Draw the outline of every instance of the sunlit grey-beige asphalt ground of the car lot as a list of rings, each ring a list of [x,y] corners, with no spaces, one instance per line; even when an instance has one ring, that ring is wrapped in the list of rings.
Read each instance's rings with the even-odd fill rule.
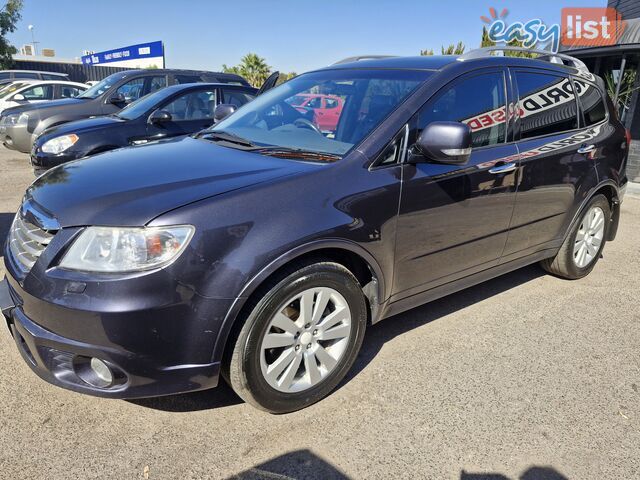
[[[26,156],[0,147],[0,240],[32,180]],[[293,414],[224,384],[135,402],[68,392],[0,325],[0,478],[640,478],[631,195],[587,278],[531,266],[385,320],[347,380]]]

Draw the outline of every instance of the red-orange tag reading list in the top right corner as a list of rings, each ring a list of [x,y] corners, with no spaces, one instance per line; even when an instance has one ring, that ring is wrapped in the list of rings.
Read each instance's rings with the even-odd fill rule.
[[[562,45],[615,45],[625,22],[615,8],[563,8]]]

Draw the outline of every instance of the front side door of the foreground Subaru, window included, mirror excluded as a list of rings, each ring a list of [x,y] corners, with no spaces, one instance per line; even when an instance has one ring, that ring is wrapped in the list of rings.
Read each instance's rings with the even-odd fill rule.
[[[433,121],[469,125],[473,150],[464,165],[403,167],[396,237],[396,299],[490,268],[507,240],[516,194],[518,152],[511,140],[506,70],[464,75],[438,91],[414,119],[409,144]]]

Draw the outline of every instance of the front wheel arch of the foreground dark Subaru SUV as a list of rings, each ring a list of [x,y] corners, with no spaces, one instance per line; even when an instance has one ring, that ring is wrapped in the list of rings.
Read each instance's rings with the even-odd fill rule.
[[[293,263],[306,259],[326,258],[347,268],[360,282],[369,310],[369,320],[377,320],[380,299],[385,298],[384,274],[376,259],[366,249],[348,240],[320,240],[301,245],[281,255],[255,274],[243,287],[228,310],[213,349],[214,362],[221,361],[234,328],[240,326],[253,296],[260,287],[281,274]]]

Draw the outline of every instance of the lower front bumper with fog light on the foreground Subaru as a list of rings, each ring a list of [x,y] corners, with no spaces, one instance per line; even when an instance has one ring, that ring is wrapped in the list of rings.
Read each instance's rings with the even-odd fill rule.
[[[189,356],[194,360],[198,357],[195,352],[181,352],[184,361],[178,364],[166,361],[175,358],[175,349],[188,348],[188,338],[177,334],[173,344],[165,338],[162,343],[166,351],[157,345],[148,348],[157,344],[157,337],[163,333],[147,329],[146,322],[136,323],[136,317],[144,317],[147,312],[122,312],[110,318],[97,312],[71,312],[35,299],[11,277],[0,282],[0,307],[24,361],[40,378],[54,385],[100,397],[142,398],[203,390],[218,384],[219,362],[189,362]],[[67,310],[69,323],[76,326],[75,338],[45,328],[45,322],[25,313],[59,319],[63,310]],[[163,312],[155,310],[153,314],[161,329]],[[174,322],[181,320],[184,319],[174,318]],[[95,340],[86,341],[87,338]],[[110,385],[95,386],[83,379],[89,360],[94,357],[110,367],[114,378]]]

